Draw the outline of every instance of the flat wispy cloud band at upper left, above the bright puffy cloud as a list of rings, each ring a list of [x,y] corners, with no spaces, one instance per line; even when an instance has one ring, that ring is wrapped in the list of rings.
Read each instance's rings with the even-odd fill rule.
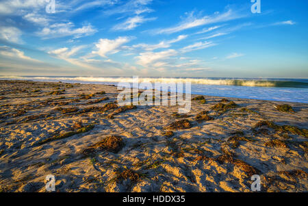
[[[44,27],[41,31],[36,34],[44,39],[48,38],[59,38],[64,36],[73,36],[74,38],[81,38],[83,36],[89,36],[97,32],[92,25],[84,25],[81,28],[73,28],[73,23],[55,23]]]

